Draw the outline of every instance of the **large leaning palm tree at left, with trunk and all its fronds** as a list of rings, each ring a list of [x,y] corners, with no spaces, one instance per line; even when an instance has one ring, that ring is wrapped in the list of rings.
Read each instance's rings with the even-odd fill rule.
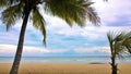
[[[17,20],[23,20],[15,59],[10,74],[17,74],[29,16],[33,21],[33,26],[44,35],[44,44],[46,45],[46,23],[40,14],[40,9],[46,13],[64,20],[70,26],[73,23],[84,26],[86,18],[97,25],[99,24],[99,17],[91,4],[93,2],[90,0],[0,0],[0,9],[3,9],[1,18],[7,29],[13,26]]]

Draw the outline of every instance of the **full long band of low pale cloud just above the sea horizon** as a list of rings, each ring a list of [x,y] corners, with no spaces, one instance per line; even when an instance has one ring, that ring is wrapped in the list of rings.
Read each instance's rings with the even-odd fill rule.
[[[0,54],[10,54],[14,55],[16,51],[16,46],[13,45],[0,45]],[[109,47],[91,47],[91,48],[75,48],[75,49],[45,49],[37,47],[24,46],[23,55],[45,55],[45,54],[56,54],[71,52],[72,53],[87,53],[87,52],[104,52],[105,54],[109,53]]]

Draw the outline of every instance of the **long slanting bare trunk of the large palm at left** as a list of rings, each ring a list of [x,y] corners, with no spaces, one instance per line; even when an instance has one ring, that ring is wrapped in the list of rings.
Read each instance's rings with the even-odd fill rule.
[[[21,62],[21,58],[22,58],[22,51],[23,51],[24,35],[25,35],[25,29],[27,26],[27,20],[28,20],[29,12],[31,11],[26,11],[24,20],[23,20],[20,38],[19,38],[19,44],[17,44],[17,49],[16,49],[16,53],[15,53],[15,59],[14,59],[12,69],[10,71],[10,74],[17,74],[17,71],[19,71],[19,66],[20,66],[20,62]]]

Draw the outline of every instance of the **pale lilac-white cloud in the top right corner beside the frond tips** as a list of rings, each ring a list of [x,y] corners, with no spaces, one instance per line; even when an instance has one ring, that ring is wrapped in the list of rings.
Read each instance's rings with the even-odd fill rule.
[[[104,2],[103,0],[93,0],[98,15],[104,23],[117,22],[120,16],[131,15],[130,0],[109,0]]]

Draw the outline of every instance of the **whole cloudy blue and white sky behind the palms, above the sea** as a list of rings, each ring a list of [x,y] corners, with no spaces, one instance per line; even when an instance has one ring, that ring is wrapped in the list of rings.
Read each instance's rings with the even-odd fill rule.
[[[67,57],[67,55],[109,55],[107,32],[131,29],[130,0],[92,0],[100,17],[100,26],[86,22],[81,28],[70,27],[64,21],[44,14],[47,29],[47,47],[43,44],[39,30],[28,22],[23,57]],[[22,21],[17,21],[9,32],[0,21],[0,57],[14,57]]]

